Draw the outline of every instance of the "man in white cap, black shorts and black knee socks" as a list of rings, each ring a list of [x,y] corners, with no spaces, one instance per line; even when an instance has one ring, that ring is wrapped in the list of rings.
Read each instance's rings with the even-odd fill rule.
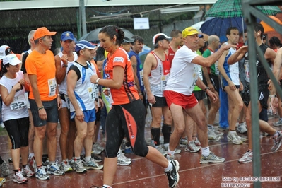
[[[165,148],[170,142],[170,131],[172,117],[168,105],[165,101],[163,91],[165,90],[168,76],[170,75],[170,60],[165,50],[170,48],[168,37],[163,33],[158,33],[153,37],[153,51],[151,51],[144,62],[143,83],[148,95],[148,102],[151,104],[153,120],[151,122],[151,145],[165,155]],[[163,137],[164,147],[160,145],[160,123],[163,117]]]

